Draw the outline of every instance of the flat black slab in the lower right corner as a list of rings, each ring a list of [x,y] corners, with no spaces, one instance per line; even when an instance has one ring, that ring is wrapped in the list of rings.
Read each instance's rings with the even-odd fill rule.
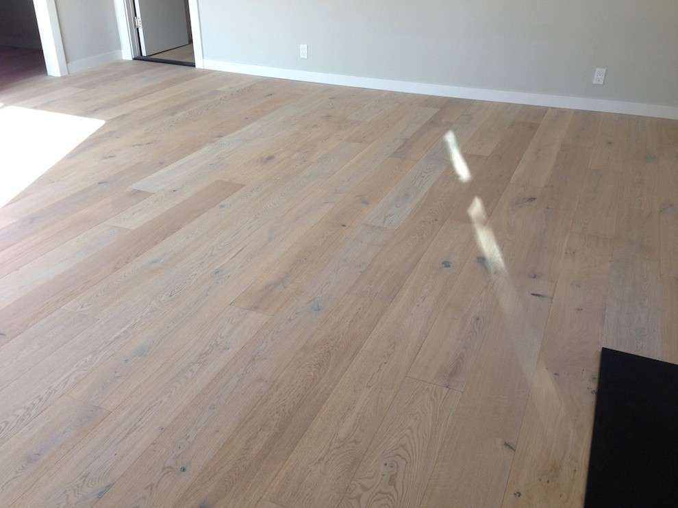
[[[678,507],[678,366],[603,348],[585,507]]]

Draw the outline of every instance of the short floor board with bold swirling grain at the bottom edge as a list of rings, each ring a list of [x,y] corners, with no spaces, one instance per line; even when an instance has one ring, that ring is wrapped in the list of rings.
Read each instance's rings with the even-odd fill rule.
[[[339,506],[418,506],[460,396],[405,378]]]

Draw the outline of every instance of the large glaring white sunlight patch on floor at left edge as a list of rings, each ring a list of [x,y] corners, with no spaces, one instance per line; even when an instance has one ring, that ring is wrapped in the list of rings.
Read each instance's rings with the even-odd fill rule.
[[[12,201],[105,122],[5,106],[0,109],[0,206]]]

